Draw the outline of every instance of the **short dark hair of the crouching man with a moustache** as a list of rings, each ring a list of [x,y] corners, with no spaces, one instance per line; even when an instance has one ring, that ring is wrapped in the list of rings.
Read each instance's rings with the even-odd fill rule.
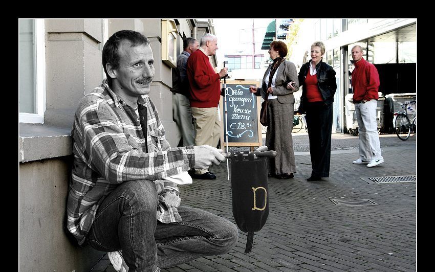
[[[133,30],[120,30],[113,34],[103,47],[102,52],[102,63],[104,68],[104,73],[106,74],[107,81],[109,84],[112,83],[112,78],[107,74],[106,63],[110,63],[113,69],[117,69],[119,66],[119,44],[123,41],[127,40],[130,42],[130,47],[135,46],[147,46],[149,45],[149,40],[142,33],[133,31]]]

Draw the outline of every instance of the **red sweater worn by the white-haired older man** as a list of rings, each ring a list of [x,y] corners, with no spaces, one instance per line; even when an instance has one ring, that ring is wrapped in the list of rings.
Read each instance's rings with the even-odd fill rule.
[[[220,77],[201,50],[193,52],[187,59],[187,76],[190,84],[190,106],[217,107],[221,98]]]

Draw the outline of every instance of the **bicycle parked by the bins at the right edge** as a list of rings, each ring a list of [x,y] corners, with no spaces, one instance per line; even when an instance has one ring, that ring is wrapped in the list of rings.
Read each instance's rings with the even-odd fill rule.
[[[410,101],[408,103],[400,104],[403,111],[398,111],[394,113],[394,127],[396,129],[397,137],[400,140],[406,141],[409,139],[411,131],[417,133],[417,111],[414,111],[411,115],[411,121],[408,118],[408,105],[415,105],[416,101]]]

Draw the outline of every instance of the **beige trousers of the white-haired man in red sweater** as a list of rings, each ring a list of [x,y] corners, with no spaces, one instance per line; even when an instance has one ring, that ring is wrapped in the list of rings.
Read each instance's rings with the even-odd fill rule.
[[[214,108],[192,107],[193,125],[195,127],[195,146],[209,145],[216,147],[221,138],[219,111]],[[195,174],[204,174],[208,169],[195,169]]]

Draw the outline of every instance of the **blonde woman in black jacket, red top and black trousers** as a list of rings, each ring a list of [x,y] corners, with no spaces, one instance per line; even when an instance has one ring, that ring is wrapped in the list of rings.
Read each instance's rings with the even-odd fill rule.
[[[335,71],[322,61],[323,42],[311,45],[311,60],[302,65],[298,79],[302,85],[299,112],[306,113],[312,172],[309,182],[329,177],[334,94],[337,89]]]

